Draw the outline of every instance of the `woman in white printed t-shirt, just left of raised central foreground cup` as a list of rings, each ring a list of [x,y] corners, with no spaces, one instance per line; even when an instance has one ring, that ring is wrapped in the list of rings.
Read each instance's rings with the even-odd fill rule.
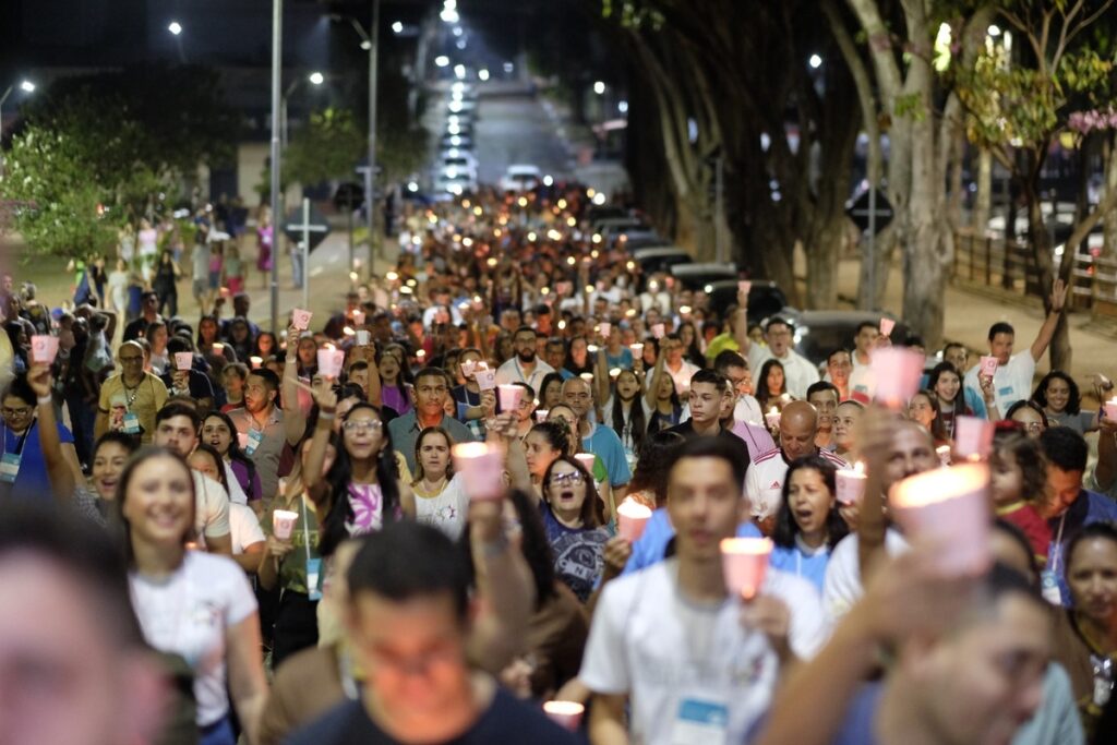
[[[440,427],[428,427],[416,439],[416,519],[432,525],[457,541],[466,525],[469,497],[450,460],[452,442]]]

